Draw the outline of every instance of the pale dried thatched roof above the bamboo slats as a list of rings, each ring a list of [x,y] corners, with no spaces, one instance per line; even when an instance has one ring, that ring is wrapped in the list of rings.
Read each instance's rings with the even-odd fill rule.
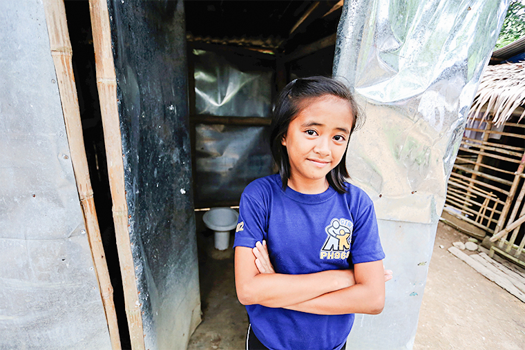
[[[493,115],[493,123],[496,126],[507,121],[516,108],[525,104],[524,68],[525,62],[487,66],[468,112],[468,118],[475,118],[481,112],[481,108],[485,107],[483,119]],[[525,110],[519,120],[524,115]]]

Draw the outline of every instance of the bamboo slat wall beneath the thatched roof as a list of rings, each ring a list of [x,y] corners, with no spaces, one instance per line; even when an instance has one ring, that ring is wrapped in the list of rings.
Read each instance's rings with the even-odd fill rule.
[[[525,124],[519,123],[520,117],[520,113],[512,117],[518,123],[500,119],[502,130],[493,130],[491,119],[470,119],[466,131],[481,133],[481,137],[461,140],[444,211],[492,234],[491,242],[499,240],[491,255],[497,252],[525,266],[525,237],[519,234],[525,222]],[[491,139],[494,135],[500,139]]]

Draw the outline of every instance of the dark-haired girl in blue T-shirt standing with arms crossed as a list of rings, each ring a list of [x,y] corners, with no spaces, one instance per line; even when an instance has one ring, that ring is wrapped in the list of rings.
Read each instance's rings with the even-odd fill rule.
[[[389,277],[374,206],[345,182],[360,121],[334,79],[296,79],[278,97],[271,151],[279,173],[245,188],[234,243],[247,349],[342,349],[354,313],[383,310]]]

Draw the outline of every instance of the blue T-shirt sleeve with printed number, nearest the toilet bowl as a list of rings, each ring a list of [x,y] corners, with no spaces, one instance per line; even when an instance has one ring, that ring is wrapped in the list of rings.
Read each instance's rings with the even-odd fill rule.
[[[267,239],[266,212],[262,200],[256,200],[251,195],[242,193],[233,248],[236,246],[254,248],[257,241],[262,242],[263,239]]]

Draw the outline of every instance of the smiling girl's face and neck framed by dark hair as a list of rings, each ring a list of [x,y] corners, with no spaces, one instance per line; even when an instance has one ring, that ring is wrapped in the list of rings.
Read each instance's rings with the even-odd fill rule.
[[[347,101],[338,97],[306,102],[281,143],[290,162],[289,186],[302,193],[320,193],[327,188],[327,173],[343,158],[354,117]]]

